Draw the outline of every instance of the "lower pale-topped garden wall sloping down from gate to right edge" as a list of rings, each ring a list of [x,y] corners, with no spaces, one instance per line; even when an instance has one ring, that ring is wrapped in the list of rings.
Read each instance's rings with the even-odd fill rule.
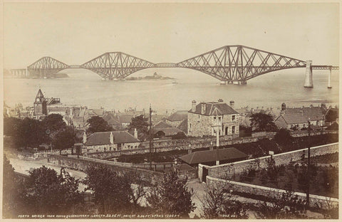
[[[266,186],[257,186],[252,184],[244,184],[236,181],[227,181],[224,179],[217,179],[212,176],[207,176],[207,184],[216,184],[216,183],[225,183],[229,185],[229,189],[232,189],[233,191],[247,193],[247,194],[257,194],[265,197],[276,197],[284,192],[286,192],[283,189],[274,189]],[[306,194],[294,192],[294,195],[297,195],[299,199],[302,201],[306,201]],[[316,203],[318,203],[318,206],[321,206],[322,208],[328,208],[328,206],[338,206],[338,199],[330,198],[327,196],[318,196],[310,194],[310,206],[316,206]]]

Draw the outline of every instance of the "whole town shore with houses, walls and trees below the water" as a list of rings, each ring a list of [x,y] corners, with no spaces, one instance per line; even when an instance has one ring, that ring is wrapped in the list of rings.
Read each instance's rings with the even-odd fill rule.
[[[16,169],[4,174],[4,206],[19,206],[10,217],[336,218],[338,105],[237,108],[218,98],[189,101],[188,110],[120,112],[46,96],[38,89],[32,107],[4,104],[4,154]],[[38,191],[45,174],[68,184],[73,201]],[[23,184],[26,191],[14,190]],[[122,190],[110,194],[115,187]],[[166,198],[176,190],[179,199]],[[48,202],[41,194],[51,195]]]

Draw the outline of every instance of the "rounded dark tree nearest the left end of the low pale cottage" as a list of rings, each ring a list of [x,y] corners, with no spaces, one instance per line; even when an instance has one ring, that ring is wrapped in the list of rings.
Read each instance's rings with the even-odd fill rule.
[[[73,147],[75,142],[76,132],[71,127],[68,127],[55,135],[52,144],[54,149],[62,150]]]

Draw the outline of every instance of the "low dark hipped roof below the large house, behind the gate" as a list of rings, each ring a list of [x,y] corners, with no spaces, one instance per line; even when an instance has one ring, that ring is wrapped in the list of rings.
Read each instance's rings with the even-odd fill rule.
[[[218,152],[218,155],[217,155]],[[185,156],[180,157],[182,161],[187,164],[200,164],[206,162],[214,162],[217,160],[229,160],[229,159],[243,159],[246,158],[247,155],[243,152],[239,151],[234,147],[225,148],[225,149],[213,149],[213,150],[204,150],[199,152],[192,152],[191,154],[187,154]]]

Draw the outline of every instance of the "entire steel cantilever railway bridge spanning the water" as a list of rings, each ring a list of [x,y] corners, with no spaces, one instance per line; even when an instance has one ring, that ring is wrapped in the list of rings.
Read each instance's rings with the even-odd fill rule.
[[[123,79],[146,68],[190,68],[211,75],[224,83],[242,83],[265,73],[289,68],[338,69],[331,65],[311,65],[304,60],[281,56],[257,48],[223,46],[180,63],[151,63],[126,53],[113,52],[93,58],[82,65],[67,65],[51,57],[43,57],[28,65],[27,72],[48,77],[67,68],[86,68],[105,79]],[[312,71],[311,71],[312,75]],[[312,77],[311,77],[312,79]],[[312,82],[312,80],[311,80]]]

